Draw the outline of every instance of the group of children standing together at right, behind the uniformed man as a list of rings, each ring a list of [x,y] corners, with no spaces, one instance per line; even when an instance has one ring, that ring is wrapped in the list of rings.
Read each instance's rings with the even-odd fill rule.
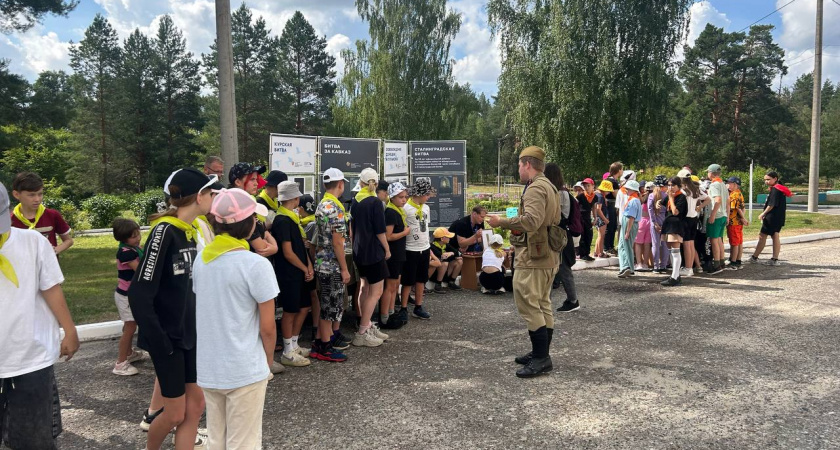
[[[741,193],[741,179],[721,178],[722,168],[712,164],[705,179],[684,167],[677,176],[657,175],[652,181],[637,181],[636,173],[613,163],[597,186],[592,178],[575,185],[580,205],[583,233],[578,257],[593,261],[590,246],[593,225],[598,230],[595,257],[618,256],[619,278],[636,272],[670,274],[664,286],[676,286],[682,277],[695,273],[715,275],[742,267],[743,227],[749,225]],[[773,240],[773,257],[768,265],[779,265],[779,232],[784,226],[789,189],[778,183],[779,175],[770,171],[765,183],[770,187],[759,219],[762,228],[759,245],[749,262],[757,262],[768,237]],[[613,206],[614,205],[614,206]],[[615,250],[608,227],[617,222],[618,249]],[[723,236],[730,245],[728,261]]]

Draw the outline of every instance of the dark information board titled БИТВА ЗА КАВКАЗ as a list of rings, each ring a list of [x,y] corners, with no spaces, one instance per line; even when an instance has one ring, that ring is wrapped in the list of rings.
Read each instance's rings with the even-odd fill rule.
[[[320,172],[334,167],[345,173],[359,173],[372,167],[379,172],[379,139],[322,137]]]

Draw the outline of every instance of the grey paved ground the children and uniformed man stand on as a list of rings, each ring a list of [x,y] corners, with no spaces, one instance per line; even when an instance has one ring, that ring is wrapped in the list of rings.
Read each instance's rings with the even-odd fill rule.
[[[669,290],[578,272],[584,307],[558,317],[535,380],[513,376],[528,342],[510,295],[433,296],[433,320],[385,346],[272,381],[265,448],[838,448],[839,243]],[[62,449],[143,448],[151,364],[116,377],[115,353],[58,365]]]

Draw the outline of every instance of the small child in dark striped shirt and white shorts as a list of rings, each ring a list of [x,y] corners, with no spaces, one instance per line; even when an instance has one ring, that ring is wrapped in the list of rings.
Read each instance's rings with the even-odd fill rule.
[[[119,355],[114,364],[112,373],[114,375],[137,375],[138,370],[131,363],[142,361],[149,357],[143,350],[134,350],[131,341],[134,339],[134,332],[137,331],[137,322],[131,315],[131,307],[128,305],[128,288],[131,286],[131,279],[134,278],[134,271],[140,265],[140,258],[143,257],[143,249],[140,248],[140,225],[131,219],[118,217],[114,220],[114,239],[119,241],[117,249],[117,289],[114,291],[114,302],[117,305],[117,312],[120,320],[123,321],[123,334],[120,337]]]

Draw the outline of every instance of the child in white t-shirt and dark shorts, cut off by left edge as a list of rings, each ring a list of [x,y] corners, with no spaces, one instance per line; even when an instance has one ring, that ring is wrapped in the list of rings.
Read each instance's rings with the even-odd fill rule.
[[[9,193],[0,183],[0,446],[56,448],[61,404],[53,365],[79,349],[63,282],[50,242],[35,230],[12,228]]]

